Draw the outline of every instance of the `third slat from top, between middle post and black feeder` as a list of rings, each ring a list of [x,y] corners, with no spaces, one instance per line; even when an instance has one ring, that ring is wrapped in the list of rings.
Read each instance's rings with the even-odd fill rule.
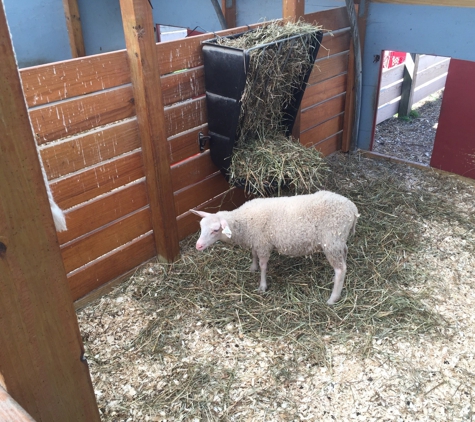
[[[191,101],[165,107],[168,137],[185,132],[207,122],[206,98],[196,98]]]

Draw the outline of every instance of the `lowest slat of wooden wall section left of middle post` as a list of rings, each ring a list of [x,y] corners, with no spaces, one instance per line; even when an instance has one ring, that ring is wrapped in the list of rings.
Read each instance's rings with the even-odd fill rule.
[[[153,233],[134,239],[120,249],[68,274],[73,300],[121,276],[156,255]]]

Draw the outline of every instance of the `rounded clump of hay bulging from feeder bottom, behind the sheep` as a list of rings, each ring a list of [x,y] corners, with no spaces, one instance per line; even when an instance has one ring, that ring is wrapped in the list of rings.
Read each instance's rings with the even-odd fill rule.
[[[257,196],[305,194],[322,188],[328,170],[316,149],[275,134],[234,150],[229,182]]]

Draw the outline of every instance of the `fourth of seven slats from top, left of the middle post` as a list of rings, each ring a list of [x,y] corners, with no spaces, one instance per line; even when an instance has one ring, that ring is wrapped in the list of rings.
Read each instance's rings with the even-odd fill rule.
[[[66,209],[142,177],[142,152],[136,151],[60,179],[50,186],[58,205]]]

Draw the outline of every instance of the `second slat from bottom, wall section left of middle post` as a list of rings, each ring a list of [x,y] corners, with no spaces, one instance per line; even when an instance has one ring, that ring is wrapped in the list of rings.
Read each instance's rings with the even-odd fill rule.
[[[142,208],[61,248],[66,272],[86,265],[152,230],[150,208]]]

